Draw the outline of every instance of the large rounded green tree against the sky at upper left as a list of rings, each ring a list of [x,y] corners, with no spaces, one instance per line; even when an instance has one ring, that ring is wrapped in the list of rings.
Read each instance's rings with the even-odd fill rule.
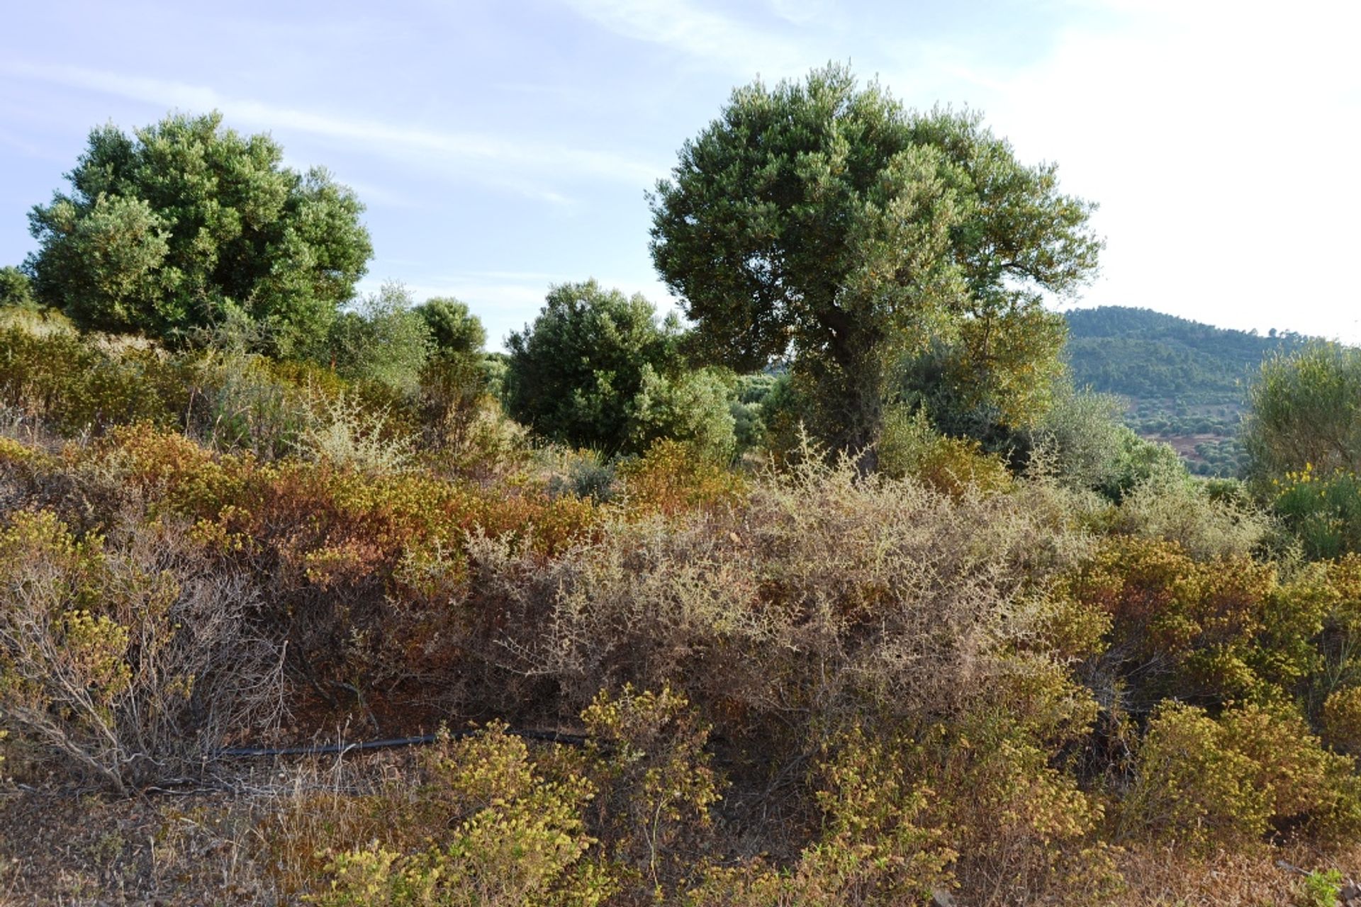
[[[314,351],[373,247],[348,188],[282,160],[219,113],[94,129],[69,193],[29,215],[39,301],[84,328],[170,341],[245,313],[271,352]]]

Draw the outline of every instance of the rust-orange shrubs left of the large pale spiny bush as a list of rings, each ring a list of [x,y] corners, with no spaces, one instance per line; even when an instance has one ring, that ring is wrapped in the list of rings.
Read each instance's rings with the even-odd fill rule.
[[[290,665],[323,695],[449,679],[465,636],[486,626],[464,606],[470,533],[524,541],[542,558],[596,519],[588,500],[532,487],[329,460],[260,462],[147,424],[69,446],[61,458],[18,447],[0,451],[18,496],[50,503],[82,529],[105,529],[127,507],[192,521],[204,558],[256,579],[264,632],[290,640]]]

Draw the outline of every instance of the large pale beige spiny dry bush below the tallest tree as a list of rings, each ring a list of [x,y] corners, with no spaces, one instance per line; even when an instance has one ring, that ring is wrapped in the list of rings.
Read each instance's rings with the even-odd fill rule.
[[[810,460],[742,507],[614,518],[548,567],[495,540],[474,556],[478,589],[512,602],[487,606],[516,615],[516,664],[553,677],[568,707],[600,685],[670,681],[729,730],[815,736],[866,710],[958,710],[1009,640],[1040,632],[1028,593],[1070,553],[1004,495],[954,500]]]

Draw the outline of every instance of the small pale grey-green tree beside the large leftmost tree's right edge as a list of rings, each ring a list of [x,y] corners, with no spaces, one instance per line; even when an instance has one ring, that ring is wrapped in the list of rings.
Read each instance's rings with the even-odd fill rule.
[[[331,325],[331,359],[350,381],[370,381],[399,394],[414,394],[433,349],[423,315],[411,309],[406,287],[387,283]]]

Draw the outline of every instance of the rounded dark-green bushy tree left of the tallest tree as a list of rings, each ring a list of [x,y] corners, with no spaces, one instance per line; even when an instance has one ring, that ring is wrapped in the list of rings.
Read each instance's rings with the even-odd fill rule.
[[[686,373],[679,325],[618,290],[562,284],[524,332],[512,333],[505,401],[539,435],[577,447],[641,453],[659,438],[732,453],[725,381]]]

